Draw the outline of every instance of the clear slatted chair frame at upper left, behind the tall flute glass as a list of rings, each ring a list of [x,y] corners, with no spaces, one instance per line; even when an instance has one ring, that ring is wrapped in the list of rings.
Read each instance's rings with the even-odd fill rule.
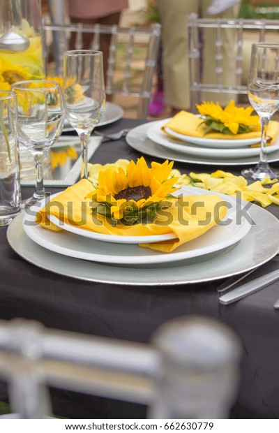
[[[43,38],[44,45],[46,48],[46,34],[47,31],[52,31],[54,36],[59,36],[56,38],[58,40],[58,44],[54,47],[56,54],[58,52],[58,56],[55,58],[59,58],[59,64],[56,62],[56,75],[62,75],[63,71],[63,52],[68,50],[68,35],[72,32],[77,34],[75,49],[82,49],[82,34],[83,33],[91,33],[93,38],[93,50],[100,49],[100,34],[111,34],[111,42],[110,42],[110,54],[108,59],[108,68],[107,68],[107,84],[106,84],[106,93],[107,95],[121,94],[123,96],[137,96],[140,98],[140,103],[137,108],[137,117],[140,119],[146,119],[148,114],[149,102],[151,98],[151,90],[153,87],[153,74],[156,71],[156,63],[158,58],[158,50],[160,44],[160,34],[161,34],[161,26],[160,24],[152,24],[149,28],[143,27],[119,27],[116,25],[107,26],[103,24],[43,24]],[[128,38],[128,48],[126,52],[126,68],[124,71],[123,85],[121,88],[114,87],[113,77],[114,71],[116,68],[116,41],[117,36],[123,35]],[[132,57],[134,48],[137,45],[135,43],[135,38],[147,37],[148,41],[145,43],[146,45],[146,58],[144,60],[144,71],[142,75],[142,82],[140,89],[132,89],[130,87],[130,76],[131,76],[131,66],[132,66]],[[47,66],[47,50],[45,49],[45,66]],[[47,70],[47,68],[46,68]]]

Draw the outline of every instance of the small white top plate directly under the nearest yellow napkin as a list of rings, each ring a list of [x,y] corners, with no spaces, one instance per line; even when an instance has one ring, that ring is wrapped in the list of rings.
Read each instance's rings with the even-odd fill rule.
[[[53,194],[51,199],[59,196],[60,193]],[[43,207],[43,204],[42,204]],[[76,235],[88,237],[89,239],[101,240],[103,242],[114,242],[117,244],[147,244],[153,242],[163,242],[164,240],[175,239],[174,233],[165,233],[163,235],[150,235],[150,236],[117,236],[117,235],[105,235],[103,233],[93,232],[92,230],[86,230],[77,226],[70,226],[70,224],[60,221],[60,219],[54,217],[54,215],[47,214],[47,218],[50,219],[55,226],[63,228],[70,233]]]

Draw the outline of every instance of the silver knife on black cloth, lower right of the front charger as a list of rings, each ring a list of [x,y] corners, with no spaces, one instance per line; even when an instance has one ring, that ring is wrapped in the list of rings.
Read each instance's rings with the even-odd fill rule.
[[[273,281],[276,281],[278,279],[279,279],[279,270],[269,272],[269,274],[262,275],[262,277],[253,279],[249,283],[234,288],[229,293],[225,293],[225,295],[220,296],[219,302],[225,305],[230,304],[231,302],[244,298],[245,296],[250,295],[251,293],[257,292],[260,288],[268,286]]]

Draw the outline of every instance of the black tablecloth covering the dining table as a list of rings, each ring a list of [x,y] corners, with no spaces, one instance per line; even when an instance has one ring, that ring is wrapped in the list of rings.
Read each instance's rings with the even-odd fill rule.
[[[147,122],[146,119],[122,118],[98,130],[114,133],[121,129],[135,129]],[[75,133],[64,135],[67,134],[73,137]],[[144,156],[147,163],[163,162],[160,156],[143,154],[136,146],[131,147],[125,137],[102,142],[90,162],[137,161],[140,156]],[[273,166],[279,168],[279,160],[273,162]],[[174,168],[181,173],[212,173],[220,169],[240,175],[242,167],[238,164],[222,166],[222,161],[218,166],[174,161]],[[47,187],[50,193],[62,189],[61,186]],[[33,187],[22,186],[23,199],[31,196],[32,192]],[[279,218],[278,205],[270,205],[264,212]],[[174,284],[159,282],[148,285],[139,284],[135,272],[135,284],[122,284],[117,279],[113,281],[115,265],[112,265],[109,267],[112,272],[109,281],[94,281],[94,275],[89,281],[29,263],[10,247],[7,229],[4,226],[0,228],[0,319],[26,318],[39,321],[47,328],[148,344],[158,326],[172,318],[190,315],[215,318],[232,328],[242,345],[241,380],[230,418],[279,418],[279,310],[273,308],[279,297],[278,282],[232,304],[220,304],[220,293],[216,288],[225,281],[222,275],[216,279],[188,282],[186,274],[185,282],[182,279]],[[248,250],[247,254],[252,253]],[[264,272],[278,269],[276,254],[263,267]],[[125,269],[129,272],[128,267],[123,267],[124,273]],[[146,418],[143,404],[59,388],[51,388],[50,392],[56,416]],[[0,400],[7,399],[6,383],[1,383]]]

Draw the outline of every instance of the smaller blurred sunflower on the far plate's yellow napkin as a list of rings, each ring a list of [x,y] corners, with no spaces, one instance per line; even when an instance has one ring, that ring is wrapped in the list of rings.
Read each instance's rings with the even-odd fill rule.
[[[218,131],[225,134],[241,134],[260,131],[259,116],[252,116],[252,107],[236,107],[234,101],[223,109],[218,103],[203,102],[197,105],[207,128],[204,133]]]

